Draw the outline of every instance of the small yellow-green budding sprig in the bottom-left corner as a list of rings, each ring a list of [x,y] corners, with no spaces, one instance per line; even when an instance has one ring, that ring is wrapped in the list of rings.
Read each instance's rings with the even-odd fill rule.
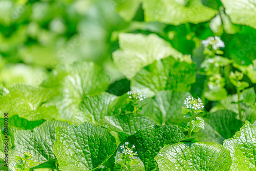
[[[16,156],[15,155],[15,162],[17,165],[15,165],[15,170],[16,171],[29,171],[29,168],[34,167],[38,165],[38,162],[35,162],[33,160],[30,160],[32,155],[30,152],[24,152],[24,157]]]

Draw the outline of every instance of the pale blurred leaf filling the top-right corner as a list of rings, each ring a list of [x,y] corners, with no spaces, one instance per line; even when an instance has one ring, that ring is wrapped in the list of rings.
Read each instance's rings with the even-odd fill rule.
[[[250,0],[221,0],[225,12],[229,15],[231,22],[238,25],[247,25],[256,29],[256,2]]]

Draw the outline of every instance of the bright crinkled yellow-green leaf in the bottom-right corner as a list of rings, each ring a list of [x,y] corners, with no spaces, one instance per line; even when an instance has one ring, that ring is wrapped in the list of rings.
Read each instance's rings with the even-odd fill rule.
[[[232,138],[224,140],[223,146],[230,151],[231,170],[256,169],[256,128],[248,121]]]

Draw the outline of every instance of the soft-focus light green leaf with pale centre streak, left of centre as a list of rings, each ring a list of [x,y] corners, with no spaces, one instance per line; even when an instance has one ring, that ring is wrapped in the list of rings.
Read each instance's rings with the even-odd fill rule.
[[[61,92],[61,96],[53,102],[58,106],[59,119],[79,124],[79,119],[93,120],[88,113],[78,110],[83,96],[107,90],[109,81],[109,76],[95,63],[75,62],[56,68],[42,86],[55,87]],[[73,118],[74,115],[76,116]]]

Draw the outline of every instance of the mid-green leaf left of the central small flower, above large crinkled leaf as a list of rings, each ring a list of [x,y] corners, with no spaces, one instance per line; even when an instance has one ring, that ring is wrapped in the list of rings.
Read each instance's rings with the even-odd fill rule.
[[[103,92],[97,95],[87,95],[82,98],[79,109],[83,113],[91,114],[96,121],[100,121],[104,116],[108,116],[111,104],[117,98],[113,94]]]

